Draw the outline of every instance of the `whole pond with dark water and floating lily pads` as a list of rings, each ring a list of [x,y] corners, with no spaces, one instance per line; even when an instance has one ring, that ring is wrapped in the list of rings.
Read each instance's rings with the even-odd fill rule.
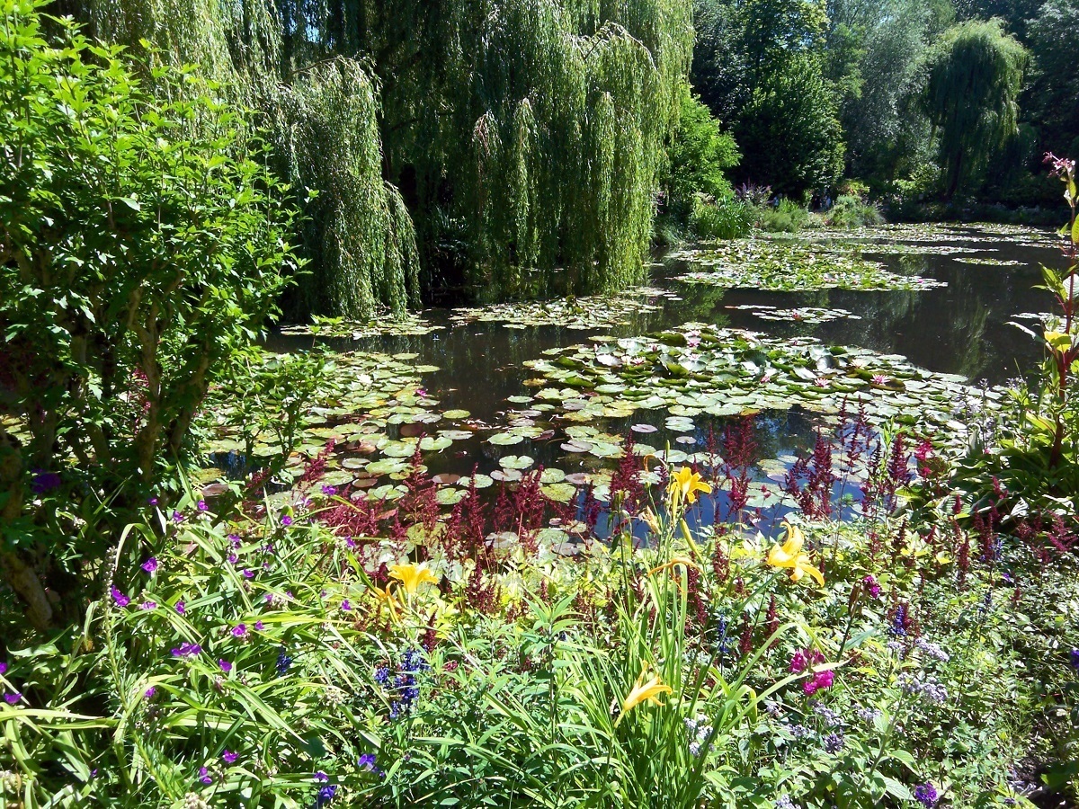
[[[585,482],[602,498],[626,436],[638,453],[670,448],[672,463],[714,463],[715,437],[752,413],[762,460],[752,477],[764,485],[754,488],[750,506],[771,508],[770,522],[786,508],[769,479],[781,480],[811,451],[822,414],[834,422],[841,397],[872,401],[875,428],[906,419],[915,433],[933,425],[955,431],[960,407],[992,409],[999,399],[993,386],[1041,358],[1040,346],[1008,324],[1049,310],[1048,293],[1035,289],[1039,265],[1062,262],[1051,232],[1024,228],[810,232],[658,256],[648,286],[625,294],[428,310],[404,329],[408,334],[341,337],[356,328],[350,325],[318,337],[285,329],[268,347],[318,341],[395,356],[387,392],[416,371],[414,395],[386,393],[374,403],[388,404],[361,414],[358,427],[356,419],[341,419],[345,403],[313,430],[323,440],[350,425],[338,430],[344,440],[333,465],[352,460],[334,480],[347,485],[356,475],[353,484],[369,496],[396,496],[409,450],[427,436],[424,464],[451,486],[445,504],[463,496],[474,466],[480,485],[543,466],[556,498],[577,497]],[[664,331],[666,338],[643,339]],[[380,356],[365,367],[388,367]],[[980,404],[986,387],[994,398]],[[366,437],[361,454],[350,450],[357,435]],[[701,509],[701,520],[709,510]]]

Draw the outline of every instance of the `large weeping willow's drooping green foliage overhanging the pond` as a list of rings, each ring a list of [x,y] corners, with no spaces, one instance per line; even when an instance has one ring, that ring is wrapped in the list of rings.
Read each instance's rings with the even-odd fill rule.
[[[310,310],[400,310],[421,277],[527,297],[642,272],[689,0],[84,1],[104,38],[269,113],[282,172],[318,192]]]

